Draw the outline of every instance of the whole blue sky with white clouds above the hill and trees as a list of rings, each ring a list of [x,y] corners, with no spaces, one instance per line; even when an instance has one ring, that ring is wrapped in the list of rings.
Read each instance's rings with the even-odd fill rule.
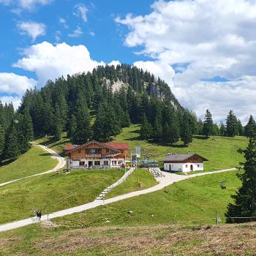
[[[0,0],[0,99],[99,64],[164,79],[185,107],[216,121],[256,113],[251,0]]]

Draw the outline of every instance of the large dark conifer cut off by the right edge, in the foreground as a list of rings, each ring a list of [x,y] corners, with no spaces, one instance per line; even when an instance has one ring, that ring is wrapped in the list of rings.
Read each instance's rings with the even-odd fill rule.
[[[227,206],[227,222],[249,222],[252,219],[231,219],[229,217],[256,217],[256,140],[249,139],[249,145],[244,151],[246,162],[244,173],[238,175],[242,185],[236,195],[234,203]]]

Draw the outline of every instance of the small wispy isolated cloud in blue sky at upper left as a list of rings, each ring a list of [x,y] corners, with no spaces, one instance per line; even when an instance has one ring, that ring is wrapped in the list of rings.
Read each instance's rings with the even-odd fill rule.
[[[20,34],[27,34],[32,38],[34,42],[39,36],[44,36],[46,34],[46,26],[43,23],[37,23],[33,21],[22,22],[17,24]]]

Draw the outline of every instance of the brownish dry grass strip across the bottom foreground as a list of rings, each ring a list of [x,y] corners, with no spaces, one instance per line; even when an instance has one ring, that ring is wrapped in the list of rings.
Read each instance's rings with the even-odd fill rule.
[[[255,255],[256,224],[67,230],[31,225],[0,233],[0,255]]]

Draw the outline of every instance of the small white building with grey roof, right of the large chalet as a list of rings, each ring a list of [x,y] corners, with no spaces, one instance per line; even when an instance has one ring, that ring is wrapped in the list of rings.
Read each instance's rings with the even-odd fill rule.
[[[200,157],[198,154],[170,154],[162,159],[164,170],[184,173],[203,170],[203,161],[208,160]]]

